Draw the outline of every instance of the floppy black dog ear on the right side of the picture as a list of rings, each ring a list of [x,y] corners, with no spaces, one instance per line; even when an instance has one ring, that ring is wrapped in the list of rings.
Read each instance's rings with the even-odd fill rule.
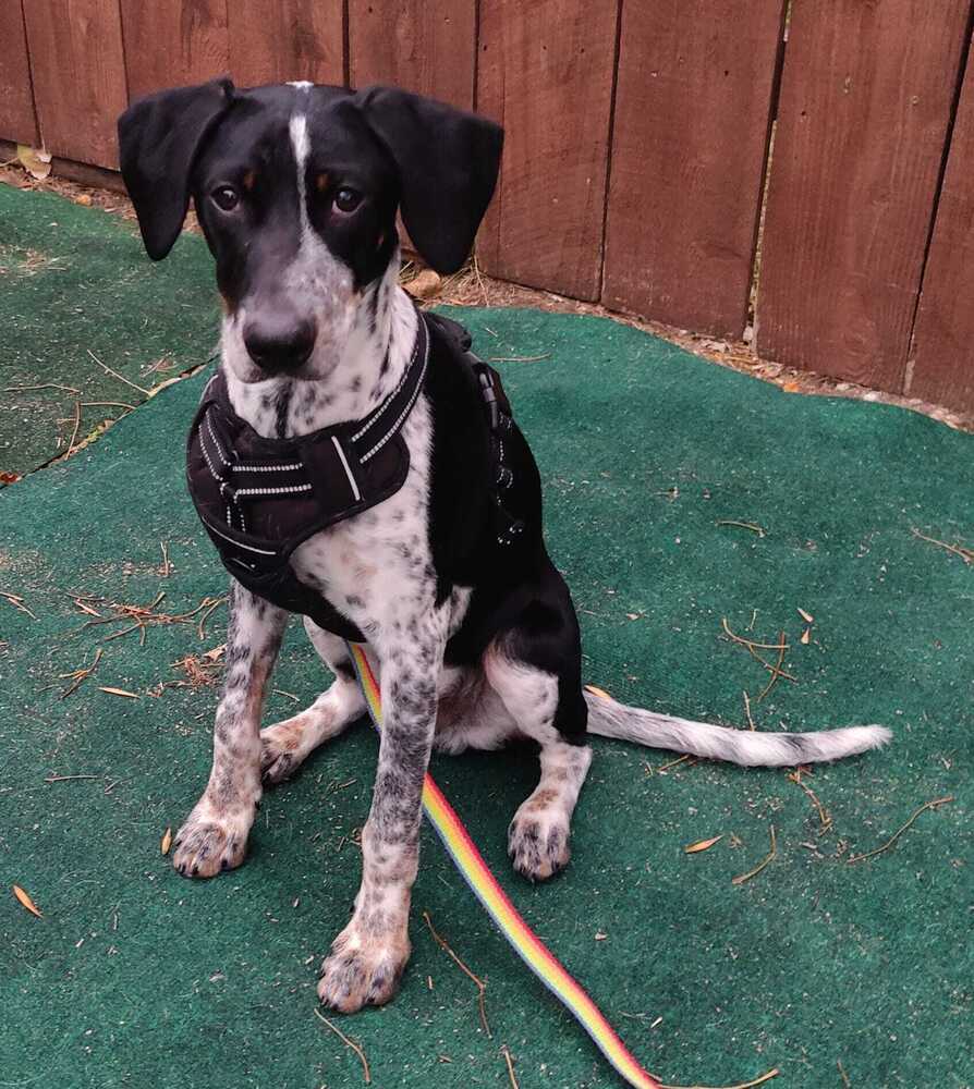
[[[410,237],[437,272],[455,272],[494,196],[503,129],[393,87],[370,87],[355,100],[399,167]]]

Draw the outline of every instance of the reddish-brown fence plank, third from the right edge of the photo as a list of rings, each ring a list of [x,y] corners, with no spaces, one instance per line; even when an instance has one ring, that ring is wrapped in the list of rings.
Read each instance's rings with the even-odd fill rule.
[[[741,335],[782,21],[782,0],[623,4],[606,306]]]

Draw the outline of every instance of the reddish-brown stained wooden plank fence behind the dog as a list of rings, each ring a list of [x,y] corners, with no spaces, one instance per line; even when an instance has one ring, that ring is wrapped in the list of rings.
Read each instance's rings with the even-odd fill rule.
[[[767,358],[970,411],[972,11],[0,0],[0,138],[114,168],[118,113],[158,87],[398,83],[507,129],[490,273],[718,337],[754,321]]]

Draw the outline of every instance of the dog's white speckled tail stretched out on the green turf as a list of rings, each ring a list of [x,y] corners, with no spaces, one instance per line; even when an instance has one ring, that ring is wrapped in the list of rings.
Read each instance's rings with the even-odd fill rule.
[[[588,732],[599,737],[618,737],[637,745],[728,760],[745,767],[776,768],[838,760],[879,748],[892,737],[886,726],[847,726],[812,734],[732,730],[628,707],[587,690],[585,702],[588,705]]]

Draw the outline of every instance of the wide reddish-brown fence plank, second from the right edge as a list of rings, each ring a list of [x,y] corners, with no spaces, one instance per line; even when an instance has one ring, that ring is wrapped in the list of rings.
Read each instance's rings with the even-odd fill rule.
[[[793,8],[758,294],[762,355],[903,387],[969,0]]]

